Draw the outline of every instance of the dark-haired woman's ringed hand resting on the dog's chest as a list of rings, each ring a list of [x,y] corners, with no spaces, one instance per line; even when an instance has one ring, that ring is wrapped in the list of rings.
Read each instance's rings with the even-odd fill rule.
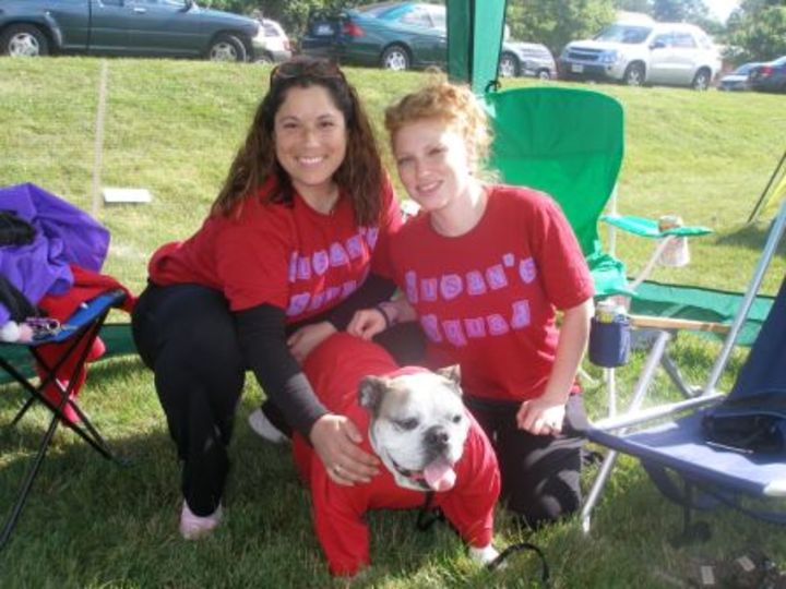
[[[379,473],[378,458],[358,446],[362,435],[346,417],[333,413],[321,417],[309,437],[334,482],[353,486],[370,482]]]

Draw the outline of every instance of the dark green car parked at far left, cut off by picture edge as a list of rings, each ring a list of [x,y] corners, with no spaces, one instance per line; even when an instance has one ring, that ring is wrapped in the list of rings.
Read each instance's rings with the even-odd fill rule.
[[[0,53],[192,57],[249,61],[260,24],[194,0],[0,0]]]

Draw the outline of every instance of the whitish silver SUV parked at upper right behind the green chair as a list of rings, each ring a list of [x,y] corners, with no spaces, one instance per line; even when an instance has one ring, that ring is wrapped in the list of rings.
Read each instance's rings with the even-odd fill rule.
[[[615,23],[594,39],[569,43],[559,58],[564,79],[614,80],[706,89],[720,70],[712,39],[684,23]]]

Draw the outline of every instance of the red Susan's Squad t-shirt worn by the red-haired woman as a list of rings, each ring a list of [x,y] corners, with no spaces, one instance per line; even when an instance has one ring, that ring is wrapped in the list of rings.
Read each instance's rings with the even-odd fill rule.
[[[396,283],[417,311],[432,364],[460,363],[471,395],[523,400],[543,394],[557,350],[555,309],[593,294],[581,248],[546,194],[491,185],[467,233],[437,233],[427,214],[391,244]]]

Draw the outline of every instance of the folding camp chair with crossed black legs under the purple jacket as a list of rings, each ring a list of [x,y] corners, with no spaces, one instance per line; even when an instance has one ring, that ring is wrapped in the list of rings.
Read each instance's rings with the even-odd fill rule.
[[[33,486],[33,481],[38,474],[55,431],[60,423],[66,424],[76,432],[82,440],[87,442],[87,444],[105,458],[117,460],[104,437],[98,433],[98,430],[93,425],[76,401],[71,398],[71,393],[79,381],[78,375],[84,368],[88,351],[98,336],[98,332],[107,314],[114,306],[119,306],[124,298],[126,293],[122,290],[107,291],[80,308],[69,317],[66,324],[58,325],[57,323],[52,323],[52,328],[49,329],[49,333],[45,332],[39,334],[39,337],[36,337],[32,342],[0,344],[0,368],[29,394],[28,399],[16,413],[16,417],[14,417],[11,425],[15,425],[36,401],[40,401],[52,412],[49,426],[44,433],[38,452],[24,478],[16,502],[3,525],[2,532],[0,533],[0,549],[5,545],[11,536],[11,531],[16,525],[22,508],[27,501],[31,488]],[[47,362],[39,351],[41,346],[49,344],[62,345],[62,353],[55,363]],[[25,375],[25,371],[19,366],[17,362],[13,361],[13,354],[8,353],[19,348],[26,348],[35,359],[39,371],[43,372],[43,376],[38,380],[37,384],[34,384],[34,382]],[[64,366],[69,368],[68,377],[62,377],[61,371]],[[61,377],[59,378],[58,375]],[[67,381],[68,384],[63,385]],[[51,400],[51,398],[45,394],[45,389],[51,389],[52,386],[60,395],[56,401]],[[66,417],[64,410],[67,406],[79,416],[79,422],[71,421]]]

